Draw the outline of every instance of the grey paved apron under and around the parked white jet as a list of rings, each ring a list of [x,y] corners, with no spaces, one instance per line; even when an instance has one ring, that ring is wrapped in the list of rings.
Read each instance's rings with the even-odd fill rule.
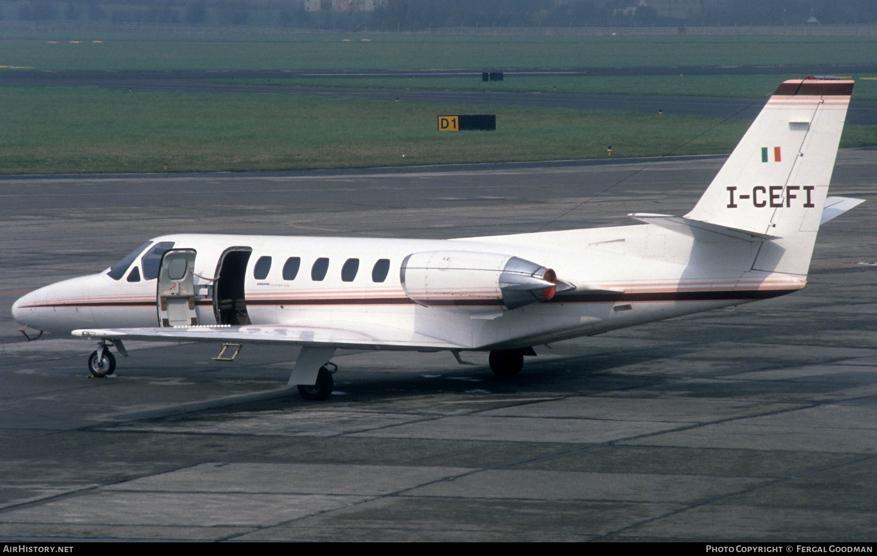
[[[722,161],[0,178],[0,538],[873,540],[877,151],[839,153],[831,193],[867,202],[824,226],[807,289],[538,347],[510,380],[481,353],[348,352],[309,403],[291,351],[147,343],[90,379],[88,341],[9,316],[162,233],[625,224],[684,214]]]

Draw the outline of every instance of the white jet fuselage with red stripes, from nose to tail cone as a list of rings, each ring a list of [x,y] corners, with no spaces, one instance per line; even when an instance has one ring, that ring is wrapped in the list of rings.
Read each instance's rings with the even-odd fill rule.
[[[517,348],[804,286],[803,276],[749,270],[753,251],[743,244],[729,240],[725,253],[721,245],[699,253],[693,239],[652,225],[446,240],[176,234],[150,240],[101,273],[37,289],[13,305],[12,315],[30,328],[62,334],[181,323],[344,322],[416,332],[463,349]],[[162,256],[181,251],[194,258],[192,291],[184,320],[175,321],[167,304],[184,286],[161,284],[158,274]],[[482,283],[496,282],[498,271],[437,267],[424,280],[449,276],[439,292],[445,301],[424,303],[400,272],[412,253],[463,253],[474,260],[510,255],[553,269],[574,288],[509,309],[496,287]]]

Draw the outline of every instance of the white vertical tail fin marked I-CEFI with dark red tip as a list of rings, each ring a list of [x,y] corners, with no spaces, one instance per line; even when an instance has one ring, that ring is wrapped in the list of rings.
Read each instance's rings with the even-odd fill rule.
[[[764,241],[753,270],[807,274],[852,81],[783,82],[686,218]]]

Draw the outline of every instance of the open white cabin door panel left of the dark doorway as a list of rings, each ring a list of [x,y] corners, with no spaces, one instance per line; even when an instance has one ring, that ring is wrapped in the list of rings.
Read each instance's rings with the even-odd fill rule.
[[[198,324],[195,312],[194,249],[171,249],[161,259],[158,284],[159,324]]]

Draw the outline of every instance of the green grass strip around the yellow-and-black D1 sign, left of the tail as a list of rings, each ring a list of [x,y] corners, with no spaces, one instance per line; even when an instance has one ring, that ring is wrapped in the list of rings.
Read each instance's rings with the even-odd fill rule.
[[[728,152],[746,122],[348,97],[2,88],[0,173],[360,168]],[[438,132],[439,113],[496,132]],[[696,138],[691,140],[692,138]],[[404,154],[404,158],[403,158]]]

